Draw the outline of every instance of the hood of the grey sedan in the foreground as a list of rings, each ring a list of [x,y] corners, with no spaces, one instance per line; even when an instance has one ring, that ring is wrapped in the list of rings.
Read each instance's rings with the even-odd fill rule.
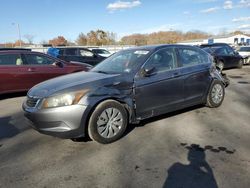
[[[116,85],[122,82],[121,74],[79,72],[47,80],[32,87],[28,96],[46,98],[60,93]]]

